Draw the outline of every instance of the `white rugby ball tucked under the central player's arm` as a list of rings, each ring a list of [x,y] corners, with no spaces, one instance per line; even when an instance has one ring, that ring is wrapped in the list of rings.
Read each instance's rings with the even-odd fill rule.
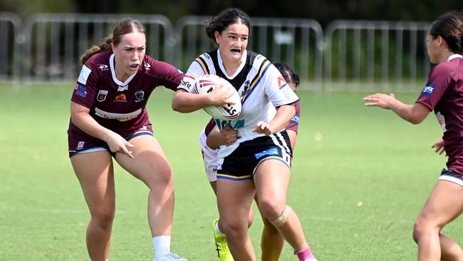
[[[196,83],[194,83],[194,91],[196,93],[211,93],[214,88],[222,84],[234,91],[234,94],[230,99],[232,102],[234,102],[234,104],[229,104],[229,110],[222,106],[209,106],[204,108],[204,111],[209,113],[210,116],[219,120],[231,120],[237,118],[241,113],[241,98],[239,97],[239,94],[234,86],[232,86],[229,81],[225,80],[224,78],[220,78],[217,75],[205,74],[204,76],[199,77]]]

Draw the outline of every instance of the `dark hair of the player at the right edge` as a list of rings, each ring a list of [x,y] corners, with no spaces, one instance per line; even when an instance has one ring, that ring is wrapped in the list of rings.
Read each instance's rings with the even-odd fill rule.
[[[432,38],[441,36],[454,53],[463,53],[463,13],[450,11],[440,16],[430,26]]]

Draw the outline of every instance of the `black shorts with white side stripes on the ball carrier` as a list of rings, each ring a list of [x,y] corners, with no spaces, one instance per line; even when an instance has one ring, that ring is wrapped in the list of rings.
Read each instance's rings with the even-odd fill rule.
[[[292,153],[286,131],[246,140],[233,153],[219,159],[217,178],[251,180],[265,160],[280,160],[291,168]]]

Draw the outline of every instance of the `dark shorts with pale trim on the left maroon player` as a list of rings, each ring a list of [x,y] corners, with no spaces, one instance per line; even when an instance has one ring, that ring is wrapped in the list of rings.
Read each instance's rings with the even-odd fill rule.
[[[154,136],[152,133],[151,123],[138,128],[137,131],[124,138],[125,140],[131,140],[132,138],[135,138],[139,135]],[[106,150],[111,153],[108,143],[105,143],[105,141],[98,138],[92,137],[80,130],[78,132],[68,132],[68,149],[69,157],[80,153],[90,153],[100,150]],[[115,153],[111,153],[111,155],[114,156]]]

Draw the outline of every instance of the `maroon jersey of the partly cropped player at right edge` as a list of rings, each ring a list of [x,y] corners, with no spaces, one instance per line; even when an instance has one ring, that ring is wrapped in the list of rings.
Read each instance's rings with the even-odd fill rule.
[[[451,59],[451,60],[450,60]],[[430,72],[417,103],[435,111],[444,131],[447,168],[463,175],[463,57],[450,56]]]

